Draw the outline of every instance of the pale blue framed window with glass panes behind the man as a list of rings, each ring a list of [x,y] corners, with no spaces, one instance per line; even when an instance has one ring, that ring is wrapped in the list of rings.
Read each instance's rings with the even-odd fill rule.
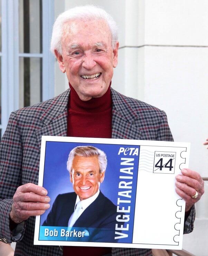
[[[54,97],[54,0],[0,0],[0,138],[16,109]],[[44,32],[44,33],[43,33]]]

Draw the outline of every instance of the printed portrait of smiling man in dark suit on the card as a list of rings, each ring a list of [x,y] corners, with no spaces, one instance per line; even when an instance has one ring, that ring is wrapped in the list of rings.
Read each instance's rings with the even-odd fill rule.
[[[100,191],[106,166],[107,158],[102,150],[92,146],[72,149],[67,170],[74,192],[56,197],[42,226],[89,228],[78,241],[117,242],[114,238],[117,207]]]

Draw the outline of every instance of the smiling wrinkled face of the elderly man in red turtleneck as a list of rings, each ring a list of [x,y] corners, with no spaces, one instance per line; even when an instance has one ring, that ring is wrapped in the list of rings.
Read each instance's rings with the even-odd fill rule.
[[[104,20],[74,20],[63,29],[63,54],[55,51],[60,70],[66,72],[69,83],[82,100],[101,97],[117,65],[119,43],[112,48],[110,29]]]

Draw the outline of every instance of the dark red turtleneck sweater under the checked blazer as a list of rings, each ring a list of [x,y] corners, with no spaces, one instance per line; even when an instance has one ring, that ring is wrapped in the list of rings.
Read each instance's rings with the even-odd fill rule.
[[[112,100],[110,86],[100,98],[82,101],[70,86],[67,115],[67,136],[111,138]],[[64,256],[102,256],[111,253],[111,248],[64,246]]]

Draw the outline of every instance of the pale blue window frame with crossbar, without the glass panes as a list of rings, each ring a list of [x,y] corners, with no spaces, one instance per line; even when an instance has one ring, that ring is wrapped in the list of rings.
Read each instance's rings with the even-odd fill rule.
[[[54,63],[50,37],[54,23],[54,0],[42,0],[42,53],[19,53],[19,1],[1,0],[1,136],[9,115],[19,108],[19,58],[42,58],[42,101],[54,97]]]

